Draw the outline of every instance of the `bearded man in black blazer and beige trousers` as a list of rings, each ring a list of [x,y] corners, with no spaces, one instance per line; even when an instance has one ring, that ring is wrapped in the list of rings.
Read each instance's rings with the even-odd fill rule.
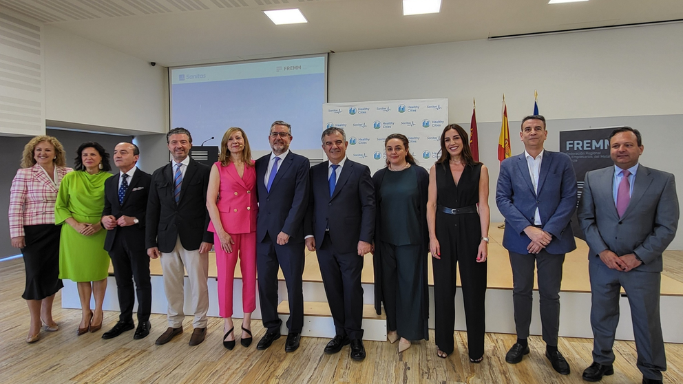
[[[185,128],[171,129],[166,136],[173,161],[154,171],[147,204],[147,255],[161,257],[164,290],[168,301],[169,328],[156,345],[168,343],[182,333],[185,319],[183,284],[185,270],[191,290],[194,330],[189,345],[204,341],[209,310],[209,250],[213,233],[209,227],[207,188],[211,169],[189,157],[192,136]]]

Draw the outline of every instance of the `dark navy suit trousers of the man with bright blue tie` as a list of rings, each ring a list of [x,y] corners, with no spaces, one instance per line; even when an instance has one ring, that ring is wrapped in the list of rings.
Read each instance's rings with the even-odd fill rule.
[[[328,233],[316,255],[337,335],[363,339],[363,256],[337,252]]]

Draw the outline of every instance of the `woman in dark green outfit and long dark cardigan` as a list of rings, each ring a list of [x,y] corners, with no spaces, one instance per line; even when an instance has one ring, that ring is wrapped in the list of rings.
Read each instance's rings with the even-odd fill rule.
[[[384,140],[387,167],[372,177],[375,184],[375,309],[381,304],[387,339],[399,341],[399,352],[411,340],[428,339],[427,191],[429,174],[415,164],[408,138],[391,134]]]

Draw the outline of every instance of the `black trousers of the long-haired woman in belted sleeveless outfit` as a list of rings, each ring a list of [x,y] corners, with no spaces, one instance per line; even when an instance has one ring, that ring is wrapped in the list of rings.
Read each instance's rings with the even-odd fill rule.
[[[477,263],[479,237],[458,233],[457,227],[448,227],[448,235],[437,233],[441,246],[441,259],[432,257],[434,266],[434,336],[439,350],[451,354],[454,350],[456,268],[465,303],[467,346],[471,359],[484,354],[486,296],[486,262]]]

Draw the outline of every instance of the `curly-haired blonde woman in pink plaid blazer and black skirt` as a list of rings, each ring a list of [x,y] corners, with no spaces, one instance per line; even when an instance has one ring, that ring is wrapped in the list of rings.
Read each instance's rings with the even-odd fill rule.
[[[40,340],[41,323],[48,332],[59,329],[52,319],[54,294],[62,288],[54,202],[59,183],[72,171],[65,165],[61,143],[52,136],[36,136],[23,149],[21,169],[10,189],[10,237],[12,246],[21,248],[26,267],[21,297],[31,314],[27,343]]]

